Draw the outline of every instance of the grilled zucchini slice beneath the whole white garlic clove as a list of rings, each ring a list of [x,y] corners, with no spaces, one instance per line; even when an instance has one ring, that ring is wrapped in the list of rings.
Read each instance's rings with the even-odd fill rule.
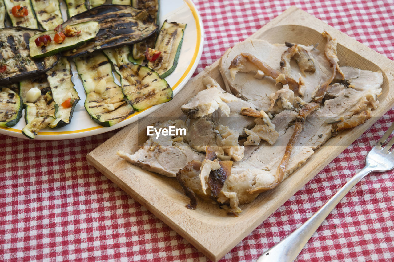
[[[28,92],[32,88],[41,90],[41,96],[34,102],[28,101]],[[41,129],[56,119],[58,104],[56,104],[52,97],[52,92],[45,74],[21,81],[19,83],[19,90],[19,95],[24,103],[26,122],[22,133],[26,137],[34,139]]]

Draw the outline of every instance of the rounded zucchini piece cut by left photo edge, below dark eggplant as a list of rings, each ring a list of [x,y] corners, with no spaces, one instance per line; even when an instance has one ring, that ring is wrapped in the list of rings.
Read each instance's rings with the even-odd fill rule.
[[[0,87],[0,127],[12,127],[22,116],[23,101],[11,88]]]

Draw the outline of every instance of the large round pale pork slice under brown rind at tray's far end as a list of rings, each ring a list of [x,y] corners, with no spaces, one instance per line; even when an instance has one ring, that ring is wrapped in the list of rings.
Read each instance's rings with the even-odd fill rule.
[[[328,79],[331,74],[329,63],[318,50],[313,46],[303,46],[308,52],[310,59],[314,61],[315,72],[304,72],[297,65],[295,59],[290,61],[290,76],[303,83],[302,92],[300,95],[305,102],[312,100],[312,94],[320,86],[320,83]],[[271,77],[261,77],[255,69],[243,68],[242,72],[237,72],[233,78],[230,74],[229,66],[232,60],[241,52],[253,54],[256,58],[260,59],[273,69],[280,71],[281,56],[288,49],[284,44],[270,44],[265,40],[260,39],[247,39],[234,45],[233,48],[227,50],[219,62],[219,70],[226,85],[226,90],[232,92],[235,96],[247,100],[252,103],[256,109],[268,111],[271,102],[269,95],[281,89],[281,85],[275,85],[275,80]]]

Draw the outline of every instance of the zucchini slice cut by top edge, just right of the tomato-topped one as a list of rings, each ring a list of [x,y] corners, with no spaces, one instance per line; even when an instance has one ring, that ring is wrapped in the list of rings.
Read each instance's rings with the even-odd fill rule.
[[[63,24],[58,0],[31,0],[38,22],[45,30]]]

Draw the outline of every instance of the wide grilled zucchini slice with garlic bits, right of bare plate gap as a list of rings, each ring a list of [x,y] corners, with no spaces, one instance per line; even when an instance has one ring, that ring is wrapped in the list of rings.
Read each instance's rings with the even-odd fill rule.
[[[114,82],[112,66],[104,54],[76,57],[74,62],[86,92],[85,109],[95,122],[111,126],[134,113]]]

